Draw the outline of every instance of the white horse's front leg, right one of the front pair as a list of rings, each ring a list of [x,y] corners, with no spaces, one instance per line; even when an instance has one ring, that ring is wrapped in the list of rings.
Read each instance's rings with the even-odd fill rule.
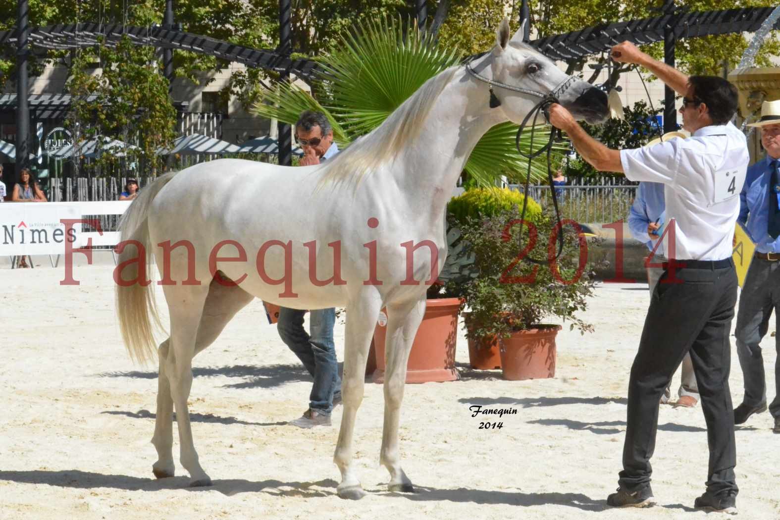
[[[413,492],[411,480],[401,469],[398,429],[401,401],[406,384],[406,363],[412,350],[417,327],[425,313],[425,300],[388,306],[388,329],[385,340],[385,426],[379,461],[390,472],[390,491]]]

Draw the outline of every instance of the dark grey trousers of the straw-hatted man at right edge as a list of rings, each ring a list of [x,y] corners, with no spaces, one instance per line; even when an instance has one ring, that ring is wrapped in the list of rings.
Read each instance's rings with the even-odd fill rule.
[[[754,258],[747,272],[745,286],[739,299],[736,317],[736,353],[742,366],[745,382],[743,403],[763,405],[767,401],[767,384],[764,376],[764,358],[761,356],[761,339],[767,334],[772,311],[780,308],[780,262]],[[775,327],[778,328],[775,312]],[[775,349],[780,344],[775,337]],[[775,400],[769,406],[772,416],[780,417],[780,356],[775,360]]]

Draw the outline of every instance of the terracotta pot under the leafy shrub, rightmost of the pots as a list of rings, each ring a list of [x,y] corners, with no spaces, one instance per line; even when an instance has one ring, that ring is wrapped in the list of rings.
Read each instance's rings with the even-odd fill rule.
[[[560,325],[517,331],[499,341],[504,379],[544,379],[555,377],[555,336]]]

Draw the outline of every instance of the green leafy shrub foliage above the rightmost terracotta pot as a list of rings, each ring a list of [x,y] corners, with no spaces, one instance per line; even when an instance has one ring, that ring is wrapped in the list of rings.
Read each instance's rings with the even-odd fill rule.
[[[573,225],[565,225],[562,254],[555,259],[555,218],[538,215],[535,241],[531,239],[535,243],[529,242],[534,232],[516,223],[519,218],[519,210],[512,208],[460,224],[463,239],[474,253],[472,268],[477,271],[477,277],[460,288],[471,310],[466,335],[477,339],[509,337],[513,331],[533,328],[549,316],[569,321],[572,329],[583,333],[592,331],[592,326],[576,316],[586,309],[587,297],[594,289],[591,267],[580,264],[585,239],[577,235]],[[523,249],[518,243],[520,234]],[[516,261],[524,249],[528,249],[524,256],[544,263]]]

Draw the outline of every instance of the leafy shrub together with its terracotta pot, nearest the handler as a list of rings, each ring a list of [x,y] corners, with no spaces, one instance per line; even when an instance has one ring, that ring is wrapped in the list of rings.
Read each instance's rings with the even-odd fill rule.
[[[583,333],[593,329],[576,316],[594,287],[587,246],[572,221],[561,226],[551,214],[530,210],[527,224],[519,219],[519,207],[513,207],[460,224],[478,273],[461,288],[470,307],[466,337],[483,348],[499,346],[505,379],[553,377],[561,327],[544,324],[544,318],[562,318]]]

